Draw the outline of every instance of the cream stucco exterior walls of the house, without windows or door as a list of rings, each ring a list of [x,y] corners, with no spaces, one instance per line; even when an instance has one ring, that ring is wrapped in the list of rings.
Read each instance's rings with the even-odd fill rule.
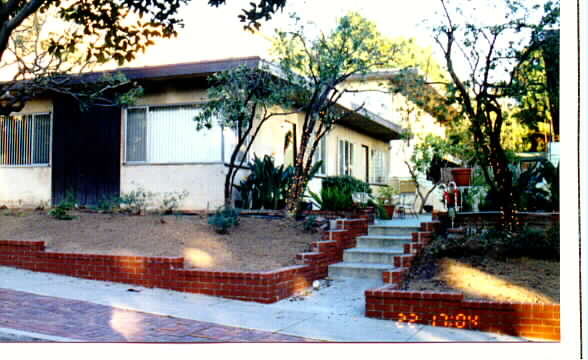
[[[186,104],[206,101],[205,89],[183,89],[167,86],[156,93],[147,93],[138,99],[136,105],[169,105]],[[21,113],[51,112],[50,100],[41,99],[27,103]],[[269,120],[253,144],[253,153],[260,157],[272,155],[277,164],[284,162],[284,136],[290,129],[285,122],[297,124],[297,140],[300,141],[303,117],[300,114],[276,117]],[[124,131],[124,122],[121,121]],[[122,144],[125,144],[122,133]],[[343,126],[336,126],[327,135],[326,175],[337,175],[338,140],[345,139],[355,144],[357,164],[353,175],[364,179],[365,168],[360,165],[361,145],[369,149],[378,149],[388,154],[388,144],[360,134]],[[219,143],[220,146],[220,143]],[[388,164],[388,160],[385,161]],[[182,164],[182,165],[127,165],[124,163],[124,149],[121,148],[121,194],[128,193],[139,187],[158,193],[181,193],[186,190],[189,196],[184,199],[182,209],[216,209],[223,203],[226,167],[221,163],[214,164]],[[246,175],[240,171],[236,183]],[[320,179],[311,182],[314,191],[320,190]],[[36,207],[51,201],[51,167],[0,167],[0,204],[8,206]],[[156,204],[158,206],[158,204]]]

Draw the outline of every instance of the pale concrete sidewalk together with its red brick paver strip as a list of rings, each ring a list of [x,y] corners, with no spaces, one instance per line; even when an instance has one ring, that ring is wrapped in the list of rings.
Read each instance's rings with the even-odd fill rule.
[[[381,282],[337,280],[264,305],[0,267],[0,339],[21,341],[499,342],[512,336],[364,316]],[[41,295],[41,296],[35,296]],[[11,329],[15,329],[11,333]],[[175,329],[175,330],[174,330]],[[8,339],[8,340],[7,340]],[[0,340],[1,341],[1,340]]]

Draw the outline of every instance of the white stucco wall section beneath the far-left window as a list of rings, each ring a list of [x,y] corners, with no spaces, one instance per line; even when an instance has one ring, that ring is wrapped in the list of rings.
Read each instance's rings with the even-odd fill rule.
[[[50,201],[50,167],[0,167],[0,205],[34,208]]]

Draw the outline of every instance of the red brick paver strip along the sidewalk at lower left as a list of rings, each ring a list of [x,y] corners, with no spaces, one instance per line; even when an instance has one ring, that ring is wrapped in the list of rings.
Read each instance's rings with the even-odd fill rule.
[[[7,289],[0,289],[0,327],[87,342],[316,341]]]

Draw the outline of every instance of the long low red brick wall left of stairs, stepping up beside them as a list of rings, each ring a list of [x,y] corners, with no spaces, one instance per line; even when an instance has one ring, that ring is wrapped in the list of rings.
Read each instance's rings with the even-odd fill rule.
[[[367,219],[340,221],[341,230],[326,232],[314,252],[297,255],[301,265],[267,272],[223,272],[184,269],[184,259],[45,252],[42,241],[0,240],[0,265],[92,280],[273,303],[292,296],[327,275],[341,261],[355,237],[367,233]]]

